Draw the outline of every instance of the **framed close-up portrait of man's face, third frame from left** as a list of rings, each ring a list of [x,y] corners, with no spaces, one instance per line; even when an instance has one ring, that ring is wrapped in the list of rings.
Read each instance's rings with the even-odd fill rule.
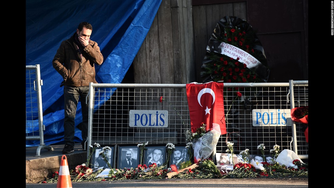
[[[144,154],[144,164],[147,166],[153,163],[161,166],[166,161],[166,145],[156,144],[153,146],[146,146]]]

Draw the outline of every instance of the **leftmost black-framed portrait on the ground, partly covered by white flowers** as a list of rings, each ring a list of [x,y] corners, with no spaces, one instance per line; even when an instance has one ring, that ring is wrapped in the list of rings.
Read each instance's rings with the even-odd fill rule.
[[[98,147],[92,154],[92,168],[114,168],[115,166],[115,145]],[[108,165],[108,163],[109,165]]]

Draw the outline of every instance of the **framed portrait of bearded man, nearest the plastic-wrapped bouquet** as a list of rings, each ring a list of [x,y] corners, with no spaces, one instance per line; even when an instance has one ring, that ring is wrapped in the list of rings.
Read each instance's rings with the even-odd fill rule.
[[[175,149],[173,149],[171,156],[170,156],[170,161],[169,161],[169,166],[170,165],[176,165],[177,169],[180,170],[180,165],[181,163],[185,161],[190,161],[190,156],[188,152],[188,148],[186,148],[186,145],[184,146],[175,146]]]

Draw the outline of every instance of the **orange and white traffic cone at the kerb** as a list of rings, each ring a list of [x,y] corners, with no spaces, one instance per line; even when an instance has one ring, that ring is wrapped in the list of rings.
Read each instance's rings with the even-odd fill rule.
[[[65,159],[64,159],[65,157]],[[57,188],[72,188],[66,155],[61,157]]]

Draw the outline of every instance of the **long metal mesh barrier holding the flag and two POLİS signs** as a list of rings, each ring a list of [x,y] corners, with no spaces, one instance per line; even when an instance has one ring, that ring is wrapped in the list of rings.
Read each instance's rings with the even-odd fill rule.
[[[298,82],[298,81],[297,81]],[[265,155],[277,144],[280,151],[293,150],[301,159],[308,159],[303,126],[253,126],[254,109],[290,109],[290,101],[308,105],[308,81],[291,87],[289,83],[224,83],[224,110],[227,134],[221,135],[214,153],[225,153],[226,141],[234,143],[234,153],[249,149],[250,154],[261,154],[257,146],[264,144]],[[290,83],[293,84],[293,83]],[[242,97],[236,100],[237,88]],[[290,92],[293,88],[295,92]],[[97,90],[95,98],[94,91]],[[289,93],[294,93],[289,100]],[[159,102],[160,97],[166,101]],[[94,98],[94,100],[93,100]],[[105,100],[105,101],[103,101]],[[91,83],[88,145],[186,144],[185,132],[190,129],[186,84],[107,84]],[[94,105],[93,105],[94,104]],[[95,112],[93,113],[93,109]],[[130,110],[166,110],[168,127],[135,128],[129,126]],[[293,143],[293,145],[292,145]]]

